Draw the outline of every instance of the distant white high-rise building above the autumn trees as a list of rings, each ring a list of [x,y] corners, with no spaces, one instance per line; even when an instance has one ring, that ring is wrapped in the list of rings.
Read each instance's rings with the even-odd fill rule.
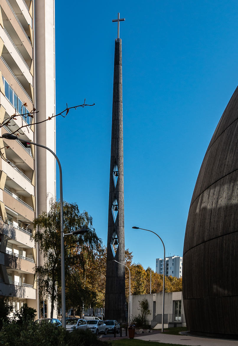
[[[165,275],[166,276],[182,276],[183,257],[169,256],[165,257]],[[163,274],[164,259],[156,258],[156,273]]]

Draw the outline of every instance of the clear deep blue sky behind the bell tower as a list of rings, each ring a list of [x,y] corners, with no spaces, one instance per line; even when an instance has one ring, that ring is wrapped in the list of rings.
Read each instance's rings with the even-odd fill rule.
[[[155,270],[182,256],[190,201],[238,81],[237,1],[56,1],[57,155],[64,199],[107,242],[114,40],[123,61],[125,247]],[[57,182],[58,183],[58,182]],[[59,196],[59,193],[58,193]]]

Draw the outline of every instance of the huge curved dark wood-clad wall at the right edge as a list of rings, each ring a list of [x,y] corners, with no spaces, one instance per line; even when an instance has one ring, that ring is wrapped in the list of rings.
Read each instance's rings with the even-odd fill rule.
[[[237,335],[238,88],[208,146],[192,195],[183,249],[190,330]]]

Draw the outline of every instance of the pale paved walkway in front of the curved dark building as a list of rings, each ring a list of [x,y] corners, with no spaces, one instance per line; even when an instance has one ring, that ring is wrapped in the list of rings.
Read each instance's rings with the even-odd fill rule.
[[[238,346],[238,340],[204,338],[191,335],[169,335],[161,333],[149,333],[147,335],[135,335],[135,339],[157,341],[167,344],[191,345],[191,346]]]

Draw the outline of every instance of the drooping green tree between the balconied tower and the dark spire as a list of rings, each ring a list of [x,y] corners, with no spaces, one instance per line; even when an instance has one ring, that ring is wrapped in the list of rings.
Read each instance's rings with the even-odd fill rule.
[[[86,211],[80,212],[76,203],[64,201],[64,233],[72,233],[79,228],[87,228],[89,231],[83,235],[65,236],[65,279],[66,291],[75,284],[76,289],[85,289],[83,277],[78,277],[77,272],[85,273],[87,259],[93,258],[94,252],[101,246],[100,239],[95,233],[92,217]],[[36,267],[36,277],[39,285],[41,299],[50,297],[51,312],[53,317],[56,298],[60,302],[61,294],[61,245],[60,245],[60,203],[51,204],[49,212],[42,212],[33,221],[35,231],[31,236],[39,244],[40,252],[44,258],[44,264]],[[86,292],[85,292],[86,294]],[[68,294],[69,296],[69,294]],[[76,301],[79,295],[74,295],[74,305],[80,305],[82,299]]]

